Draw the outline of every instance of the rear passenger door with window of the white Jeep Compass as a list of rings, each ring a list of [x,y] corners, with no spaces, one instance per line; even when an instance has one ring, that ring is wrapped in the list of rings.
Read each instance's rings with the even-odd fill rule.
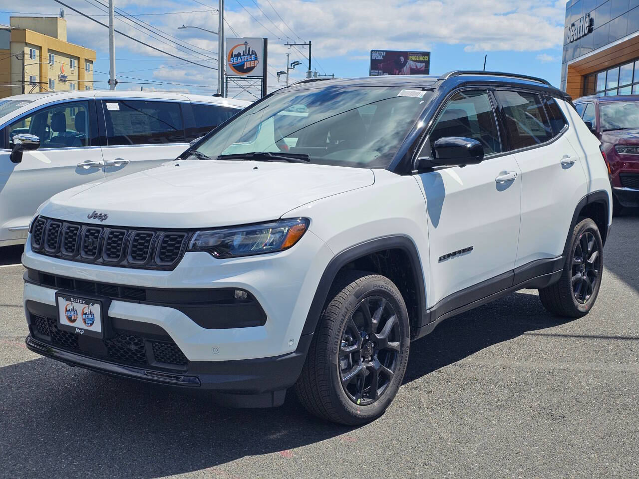
[[[562,254],[574,208],[586,194],[585,174],[569,141],[574,130],[553,98],[544,105],[532,91],[499,90],[495,96],[521,169],[518,268]]]

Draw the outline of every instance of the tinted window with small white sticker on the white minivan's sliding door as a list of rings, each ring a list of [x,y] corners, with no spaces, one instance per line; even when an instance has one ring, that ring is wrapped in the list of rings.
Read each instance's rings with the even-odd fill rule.
[[[109,145],[183,143],[180,103],[103,100]]]

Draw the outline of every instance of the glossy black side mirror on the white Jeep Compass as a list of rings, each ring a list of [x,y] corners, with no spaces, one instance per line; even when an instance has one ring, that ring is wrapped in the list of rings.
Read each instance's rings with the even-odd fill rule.
[[[417,158],[413,166],[420,170],[436,166],[477,165],[484,160],[484,147],[472,138],[443,137],[433,144],[433,156]]]

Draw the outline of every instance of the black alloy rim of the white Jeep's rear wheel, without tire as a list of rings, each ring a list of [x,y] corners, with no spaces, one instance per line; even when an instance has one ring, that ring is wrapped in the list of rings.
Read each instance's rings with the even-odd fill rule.
[[[591,231],[581,233],[573,254],[573,294],[580,304],[585,304],[599,283],[601,257],[597,239]]]

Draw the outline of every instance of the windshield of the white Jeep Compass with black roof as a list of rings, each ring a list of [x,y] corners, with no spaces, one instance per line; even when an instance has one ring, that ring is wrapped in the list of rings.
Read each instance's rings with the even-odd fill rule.
[[[385,168],[429,95],[399,87],[282,91],[250,107],[197,151],[199,158],[268,151],[308,155],[311,163]]]

